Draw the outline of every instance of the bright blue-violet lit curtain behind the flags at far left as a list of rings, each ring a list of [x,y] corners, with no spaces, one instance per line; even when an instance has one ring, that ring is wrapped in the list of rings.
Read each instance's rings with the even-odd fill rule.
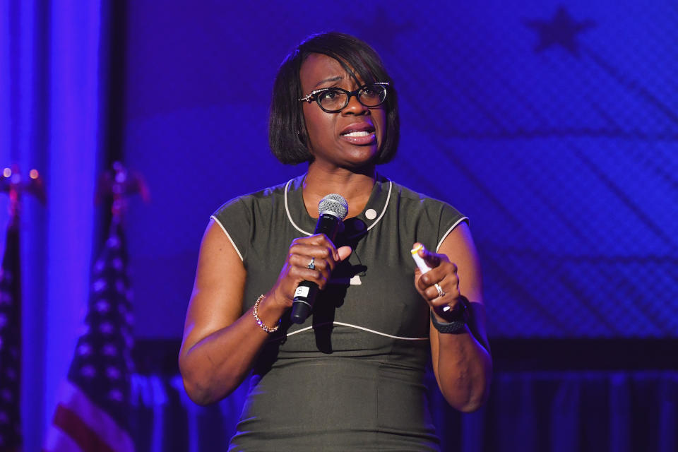
[[[110,3],[0,0],[0,168],[18,165],[23,181],[37,169],[47,198],[24,193],[20,203],[22,381],[11,397],[25,451],[42,447],[87,303]]]

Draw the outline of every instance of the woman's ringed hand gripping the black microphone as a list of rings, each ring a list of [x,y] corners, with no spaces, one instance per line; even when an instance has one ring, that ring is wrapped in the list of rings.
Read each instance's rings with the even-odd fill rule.
[[[337,263],[350,256],[351,252],[350,246],[340,246],[336,249],[325,234],[292,240],[278,280],[266,294],[269,308],[279,311],[282,316],[285,309],[292,307],[295,290],[302,281],[316,283],[319,290],[323,290]],[[314,268],[309,268],[311,260]]]

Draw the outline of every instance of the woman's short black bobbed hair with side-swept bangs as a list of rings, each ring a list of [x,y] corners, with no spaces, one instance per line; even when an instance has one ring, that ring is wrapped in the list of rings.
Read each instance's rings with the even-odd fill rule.
[[[299,70],[310,54],[325,54],[337,61],[347,73],[355,71],[364,83],[388,82],[386,95],[386,136],[376,163],[389,162],[398,149],[400,117],[398,96],[379,54],[367,42],[339,32],[310,35],[285,57],[273,83],[268,119],[268,144],[280,162],[296,165],[313,159],[308,148],[302,102],[304,97]]]

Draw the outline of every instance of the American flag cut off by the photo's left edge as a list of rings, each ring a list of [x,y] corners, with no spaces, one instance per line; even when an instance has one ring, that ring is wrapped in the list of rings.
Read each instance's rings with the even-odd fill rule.
[[[0,451],[18,451],[21,447],[20,350],[19,227],[18,218],[12,215],[0,268]]]

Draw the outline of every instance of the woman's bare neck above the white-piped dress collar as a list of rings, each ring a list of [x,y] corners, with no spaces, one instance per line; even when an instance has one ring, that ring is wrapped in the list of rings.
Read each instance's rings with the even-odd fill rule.
[[[350,169],[335,168],[331,171],[309,165],[309,172],[304,179],[304,205],[309,215],[318,216],[318,203],[326,195],[340,194],[348,203],[347,218],[352,218],[362,212],[369,201],[369,196],[376,180],[374,166],[359,172]]]

